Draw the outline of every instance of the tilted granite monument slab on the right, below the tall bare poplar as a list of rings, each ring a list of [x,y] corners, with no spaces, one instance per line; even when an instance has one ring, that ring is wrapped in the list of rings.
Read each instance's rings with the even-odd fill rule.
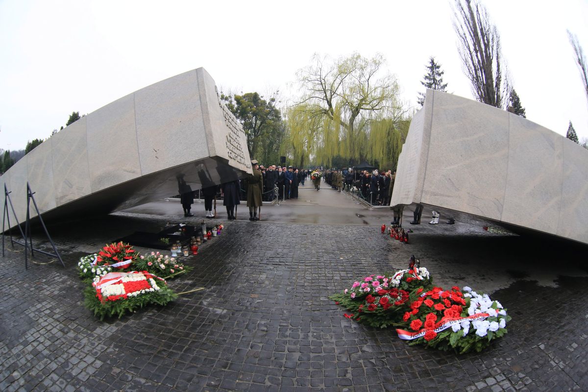
[[[390,205],[423,203],[588,243],[588,150],[506,110],[427,90]]]

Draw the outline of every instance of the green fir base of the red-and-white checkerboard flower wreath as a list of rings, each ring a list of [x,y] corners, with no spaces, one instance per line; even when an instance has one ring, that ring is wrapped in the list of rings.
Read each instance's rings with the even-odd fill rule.
[[[141,294],[140,296],[131,297],[124,300],[103,301],[96,297],[96,289],[92,286],[86,287],[83,292],[85,297],[84,306],[93,311],[94,316],[99,317],[102,321],[105,317],[118,316],[120,319],[125,313],[133,313],[150,304],[165,306],[175,300],[178,294],[175,294],[167,286],[161,287],[156,292]]]

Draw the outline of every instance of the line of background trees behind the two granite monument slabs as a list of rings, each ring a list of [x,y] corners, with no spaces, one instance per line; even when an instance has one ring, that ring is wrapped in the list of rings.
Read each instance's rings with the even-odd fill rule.
[[[455,0],[452,22],[473,96],[526,117],[502,56],[499,32],[486,8],[479,0]],[[569,31],[568,35],[588,99],[586,56],[577,37]],[[422,85],[446,91],[444,72],[433,56],[426,70]],[[281,108],[278,91],[269,98],[258,92],[220,93],[243,125],[252,159],[271,165],[286,156],[286,164],[297,167],[350,167],[364,160],[382,169],[396,167],[414,109],[400,99],[397,79],[386,70],[382,55],[364,58],[353,53],[338,59],[315,55],[297,76],[300,95]],[[425,93],[418,93],[417,103],[424,105]],[[72,112],[66,126],[79,118],[79,112]],[[571,120],[566,137],[588,149],[588,138],[578,140]],[[43,141],[32,140],[25,150],[4,155],[0,150],[0,172]]]

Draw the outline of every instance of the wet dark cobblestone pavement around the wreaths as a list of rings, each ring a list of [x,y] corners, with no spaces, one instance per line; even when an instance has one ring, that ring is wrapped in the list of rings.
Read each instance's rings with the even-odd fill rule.
[[[95,319],[83,307],[79,257],[173,222],[187,221],[116,213],[52,226],[65,268],[39,257],[25,270],[22,249],[8,245],[0,390],[588,390],[586,247],[473,226],[412,227],[401,244],[373,225],[220,221],[223,234],[185,259],[195,270],[169,282],[176,292],[206,290]],[[46,246],[41,236],[35,243]],[[409,347],[328,299],[358,277],[406,267],[411,254],[441,286],[492,293],[513,317],[509,333],[478,354]]]

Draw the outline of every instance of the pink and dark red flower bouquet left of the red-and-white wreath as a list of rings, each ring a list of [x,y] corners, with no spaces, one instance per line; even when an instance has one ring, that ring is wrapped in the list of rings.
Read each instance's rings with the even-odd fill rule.
[[[345,313],[348,319],[385,328],[399,323],[399,314],[402,314],[402,305],[409,300],[409,293],[393,287],[389,277],[373,274],[329,298],[352,312]]]

